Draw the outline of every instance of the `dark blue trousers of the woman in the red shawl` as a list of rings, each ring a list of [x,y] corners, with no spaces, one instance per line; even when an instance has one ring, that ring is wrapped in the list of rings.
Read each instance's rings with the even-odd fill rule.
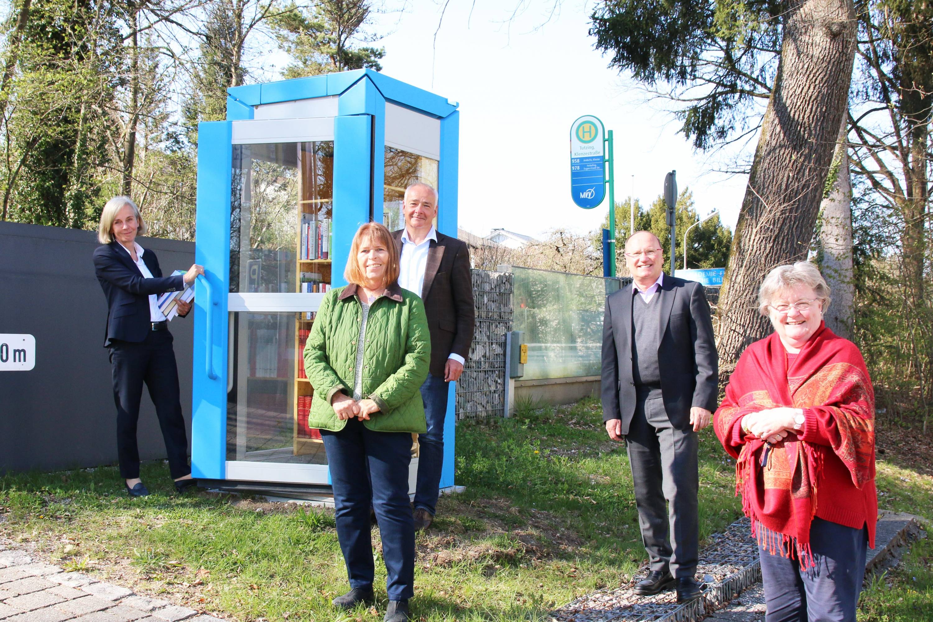
[[[797,559],[759,546],[765,622],[856,622],[868,542],[865,527],[815,517],[810,525],[814,567],[801,571]]]

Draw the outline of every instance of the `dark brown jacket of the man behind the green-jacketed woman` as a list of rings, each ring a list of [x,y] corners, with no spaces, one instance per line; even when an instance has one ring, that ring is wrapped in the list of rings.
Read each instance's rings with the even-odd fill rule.
[[[396,252],[401,257],[402,233],[392,233]],[[461,240],[438,232],[427,251],[425,284],[427,328],[431,333],[431,374],[444,377],[444,364],[453,354],[469,359],[473,343],[476,310],[473,304],[473,279],[470,276],[469,248]]]

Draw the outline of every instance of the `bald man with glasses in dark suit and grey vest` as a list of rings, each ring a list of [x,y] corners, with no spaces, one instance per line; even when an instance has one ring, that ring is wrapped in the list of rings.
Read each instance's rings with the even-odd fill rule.
[[[626,242],[633,283],[606,298],[601,392],[609,438],[628,445],[648,550],[648,577],[635,592],[657,594],[675,585],[682,602],[701,594],[693,578],[696,432],[716,410],[718,358],[703,286],[663,274],[663,262],[654,233],[636,232]]]

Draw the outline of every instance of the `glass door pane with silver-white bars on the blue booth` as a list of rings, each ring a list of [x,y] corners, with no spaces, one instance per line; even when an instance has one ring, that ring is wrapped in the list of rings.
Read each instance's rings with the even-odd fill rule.
[[[227,476],[327,484],[301,353],[332,284],[333,120],[295,142],[286,121],[240,123],[260,128],[233,136]]]

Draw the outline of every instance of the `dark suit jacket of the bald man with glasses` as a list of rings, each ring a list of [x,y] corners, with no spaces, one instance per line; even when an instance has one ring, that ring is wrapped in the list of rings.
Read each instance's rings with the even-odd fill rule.
[[[606,298],[603,318],[603,420],[621,419],[629,432],[635,412],[632,375],[631,281]],[[716,410],[719,358],[703,286],[664,275],[661,290],[661,393],[677,430],[689,428],[690,407]]]

